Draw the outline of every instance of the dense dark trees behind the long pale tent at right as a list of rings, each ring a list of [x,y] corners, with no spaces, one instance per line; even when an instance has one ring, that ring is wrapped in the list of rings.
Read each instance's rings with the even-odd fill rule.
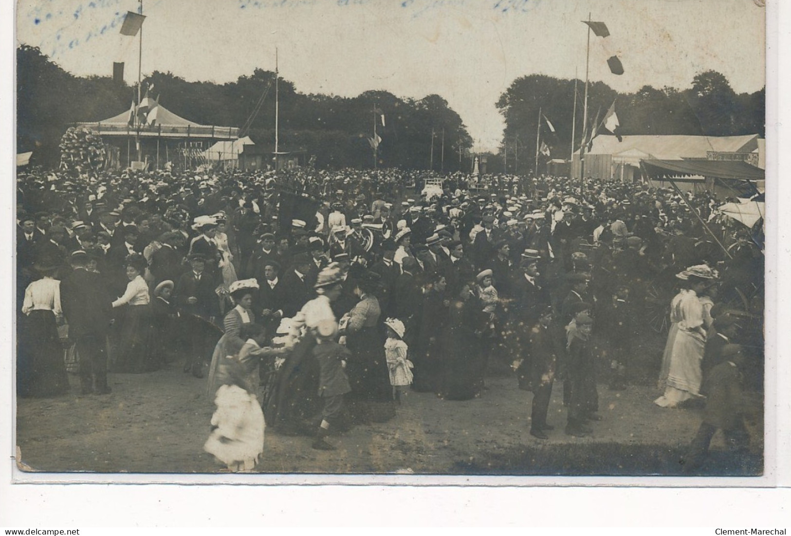
[[[583,137],[584,91],[585,81],[577,81],[575,149],[579,149]],[[615,101],[620,122],[618,134],[763,136],[765,131],[765,90],[736,93],[728,79],[716,71],[696,75],[691,88],[683,90],[645,85],[634,93],[619,93],[603,82],[592,82],[588,92],[589,125],[596,123],[597,116],[601,120]],[[573,80],[532,74],[513,81],[497,103],[505,118],[504,142],[499,154],[502,157],[507,152],[509,170],[513,171],[517,151],[520,170],[535,167],[539,108],[555,128],[552,133],[546,123],[541,126],[541,139],[551,149],[551,157],[570,157],[573,102]],[[542,155],[540,159],[543,162],[547,157]]]

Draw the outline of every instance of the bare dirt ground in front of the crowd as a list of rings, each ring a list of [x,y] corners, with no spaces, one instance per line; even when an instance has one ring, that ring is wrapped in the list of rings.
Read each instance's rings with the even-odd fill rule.
[[[102,473],[214,473],[224,467],[202,450],[210,432],[213,399],[206,380],[184,374],[180,366],[146,374],[111,374],[112,394],[72,394],[17,401],[17,446],[26,470]],[[513,376],[486,380],[481,398],[467,402],[411,393],[397,416],[384,424],[360,425],[329,441],[335,451],[316,451],[302,436],[267,432],[261,473],[414,473],[460,474],[517,448],[551,449],[558,444],[667,445],[678,450],[691,440],[702,410],[668,410],[652,401],[660,395],[648,384],[609,391],[600,383],[600,413],[586,438],[566,436],[562,386],[555,383],[550,406],[549,440],[529,435],[532,394],[520,391]],[[751,452],[763,451],[761,400],[751,397]],[[713,451],[724,450],[721,432]],[[21,463],[20,463],[21,462]],[[585,464],[591,463],[590,460]],[[645,473],[652,472],[646,462]],[[593,462],[595,465],[595,462]],[[540,474],[541,467],[526,468]],[[572,467],[573,470],[573,467]]]

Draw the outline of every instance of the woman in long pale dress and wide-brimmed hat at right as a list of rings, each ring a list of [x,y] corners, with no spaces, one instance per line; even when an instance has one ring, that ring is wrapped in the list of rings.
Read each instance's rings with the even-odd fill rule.
[[[706,325],[699,295],[717,282],[719,274],[703,264],[690,266],[676,277],[686,281],[687,289],[673,298],[671,304],[670,319],[676,329],[668,334],[663,357],[660,383],[664,382],[664,394],[654,401],[662,407],[676,407],[700,396]]]

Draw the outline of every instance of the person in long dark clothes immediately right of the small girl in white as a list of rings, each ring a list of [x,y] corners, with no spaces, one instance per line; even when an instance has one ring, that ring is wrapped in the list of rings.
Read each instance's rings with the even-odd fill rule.
[[[445,281],[445,275],[438,272],[428,276],[414,352],[410,352],[410,360],[414,363],[412,389],[421,393],[436,393],[440,388],[441,334],[445,332],[445,324],[448,323],[450,305],[448,297],[445,296]]]

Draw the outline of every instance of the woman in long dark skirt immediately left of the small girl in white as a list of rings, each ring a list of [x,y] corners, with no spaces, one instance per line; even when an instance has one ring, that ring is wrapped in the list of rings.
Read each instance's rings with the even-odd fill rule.
[[[384,338],[380,332],[379,300],[374,296],[379,276],[373,272],[356,279],[354,295],[360,299],[341,319],[341,334],[352,353],[346,365],[351,392],[346,395],[351,417],[357,422],[385,422],[395,417]]]

